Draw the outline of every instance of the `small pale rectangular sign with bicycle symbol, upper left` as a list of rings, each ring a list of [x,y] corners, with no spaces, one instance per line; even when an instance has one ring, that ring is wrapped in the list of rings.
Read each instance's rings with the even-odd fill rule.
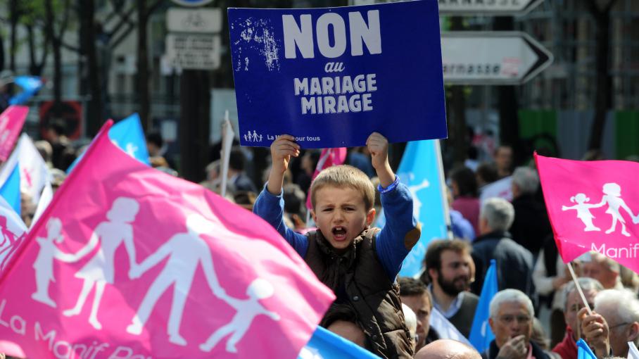
[[[169,8],[166,26],[170,32],[220,32],[222,11],[220,8]]]

